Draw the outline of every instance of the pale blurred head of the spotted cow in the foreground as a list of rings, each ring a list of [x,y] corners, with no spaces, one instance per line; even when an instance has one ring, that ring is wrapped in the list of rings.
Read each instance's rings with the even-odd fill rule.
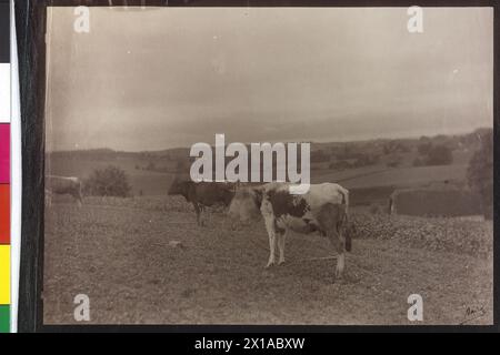
[[[229,205],[231,220],[248,223],[260,217],[260,205],[262,203],[262,187],[239,187]]]

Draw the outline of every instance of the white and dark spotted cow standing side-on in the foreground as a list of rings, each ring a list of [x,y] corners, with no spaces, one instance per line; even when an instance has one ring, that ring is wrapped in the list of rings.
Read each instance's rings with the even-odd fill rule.
[[[276,246],[279,264],[284,262],[287,230],[300,233],[319,232],[327,236],[338,253],[336,277],[344,268],[344,252],[351,251],[351,239],[347,233],[349,191],[339,184],[312,184],[306,194],[291,194],[289,183],[269,183],[258,187],[242,187],[236,192],[229,206],[232,219],[243,222],[262,215],[269,234],[269,261],[276,263]]]

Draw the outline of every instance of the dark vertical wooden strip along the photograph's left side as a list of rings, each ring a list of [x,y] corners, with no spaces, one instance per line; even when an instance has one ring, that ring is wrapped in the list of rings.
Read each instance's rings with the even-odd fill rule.
[[[39,329],[43,320],[43,115],[46,4],[16,1],[21,99],[22,229],[18,332]]]

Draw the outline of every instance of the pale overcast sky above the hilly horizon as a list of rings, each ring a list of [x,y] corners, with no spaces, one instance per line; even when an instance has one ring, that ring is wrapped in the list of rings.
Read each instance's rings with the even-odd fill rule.
[[[493,11],[53,8],[47,149],[349,141],[492,126]]]

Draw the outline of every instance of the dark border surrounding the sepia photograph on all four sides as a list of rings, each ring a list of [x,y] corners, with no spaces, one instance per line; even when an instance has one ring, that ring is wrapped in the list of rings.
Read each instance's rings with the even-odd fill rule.
[[[217,332],[217,333],[331,333],[331,332],[498,332],[499,331],[499,169],[493,168],[493,325],[47,325],[43,323],[43,255],[44,255],[44,100],[46,100],[46,16],[49,6],[162,6],[162,7],[491,7],[493,23],[493,138],[499,122],[499,50],[500,4],[494,0],[450,1],[326,1],[326,0],[23,0],[16,1],[16,23],[19,52],[22,146],[22,233],[19,283],[19,332]],[[497,165],[500,144],[494,144]]]

